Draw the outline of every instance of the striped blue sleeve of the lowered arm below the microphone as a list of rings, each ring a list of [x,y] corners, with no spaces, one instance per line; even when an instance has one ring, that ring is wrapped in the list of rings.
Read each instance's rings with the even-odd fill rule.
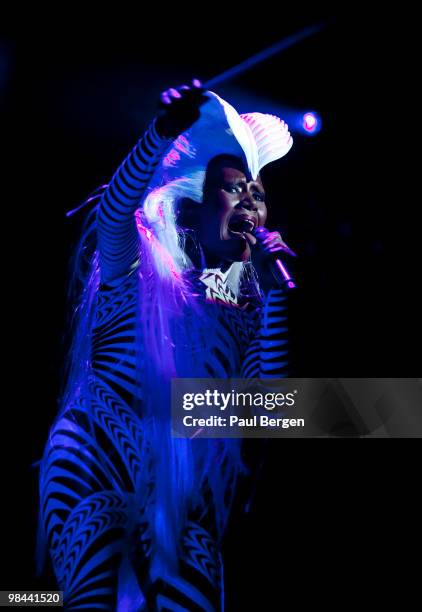
[[[242,367],[242,378],[288,376],[287,296],[270,289],[264,296],[258,333],[250,343]]]

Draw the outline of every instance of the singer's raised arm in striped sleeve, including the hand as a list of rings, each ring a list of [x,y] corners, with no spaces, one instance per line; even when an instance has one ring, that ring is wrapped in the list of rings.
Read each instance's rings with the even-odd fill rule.
[[[97,215],[102,282],[126,274],[139,258],[134,213],[165,150],[199,116],[205,101],[199,81],[161,94],[161,112],[119,167]]]

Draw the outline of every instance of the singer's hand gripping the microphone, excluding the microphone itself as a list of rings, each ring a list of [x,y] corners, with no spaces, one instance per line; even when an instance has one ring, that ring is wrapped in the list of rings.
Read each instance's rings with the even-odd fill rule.
[[[258,273],[261,288],[267,293],[271,287],[278,284],[272,273],[271,260],[277,253],[286,253],[291,257],[297,255],[287,246],[279,232],[270,232],[266,227],[257,227],[254,234],[256,243],[252,249],[252,263]]]

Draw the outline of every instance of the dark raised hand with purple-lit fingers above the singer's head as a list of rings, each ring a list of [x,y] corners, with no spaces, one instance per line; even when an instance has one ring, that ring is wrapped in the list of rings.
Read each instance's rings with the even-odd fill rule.
[[[167,89],[160,96],[159,114],[155,127],[163,138],[176,138],[199,118],[200,108],[208,100],[202,83],[194,79],[191,85]]]

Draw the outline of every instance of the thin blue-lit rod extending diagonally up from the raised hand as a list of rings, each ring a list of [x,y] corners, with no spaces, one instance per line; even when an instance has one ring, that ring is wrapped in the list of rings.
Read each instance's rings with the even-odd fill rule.
[[[215,85],[221,85],[221,83],[224,83],[225,81],[228,81],[229,79],[232,79],[233,77],[242,74],[242,72],[246,72],[247,70],[252,68],[252,66],[259,64],[260,62],[263,62],[269,57],[272,57],[277,53],[281,53],[281,51],[285,51],[285,49],[288,49],[289,47],[296,45],[302,40],[313,36],[317,32],[320,32],[323,28],[325,28],[326,25],[326,22],[321,21],[315,23],[314,25],[308,26],[307,28],[303,28],[303,30],[296,32],[291,36],[287,36],[286,38],[279,40],[274,45],[271,45],[271,47],[267,47],[266,49],[259,51],[252,57],[246,59],[244,62],[237,64],[237,66],[233,66],[233,68],[229,68],[228,70],[225,70],[224,72],[213,77],[212,79],[209,79],[206,83],[204,83],[205,89],[210,89],[210,87],[215,87]]]

